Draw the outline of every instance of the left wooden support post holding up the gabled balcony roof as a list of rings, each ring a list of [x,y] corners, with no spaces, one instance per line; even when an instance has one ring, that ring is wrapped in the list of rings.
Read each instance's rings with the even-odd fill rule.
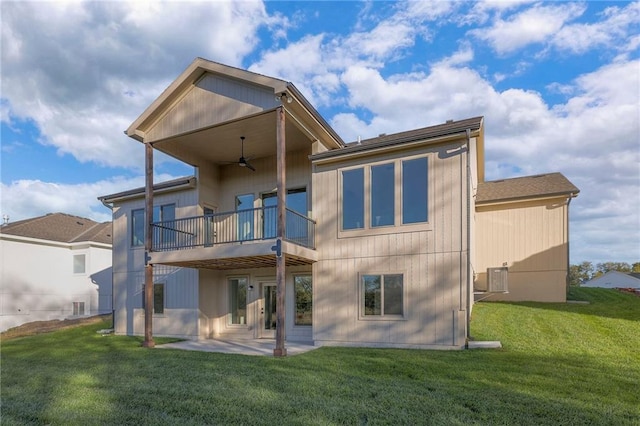
[[[144,342],[142,346],[153,348],[153,265],[150,260],[153,222],[153,146],[145,146],[145,219],[144,219]]]

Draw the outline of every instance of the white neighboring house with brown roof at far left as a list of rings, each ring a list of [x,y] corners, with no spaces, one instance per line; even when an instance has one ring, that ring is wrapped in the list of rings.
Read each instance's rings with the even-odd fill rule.
[[[51,213],[0,227],[0,331],[111,313],[111,222]]]

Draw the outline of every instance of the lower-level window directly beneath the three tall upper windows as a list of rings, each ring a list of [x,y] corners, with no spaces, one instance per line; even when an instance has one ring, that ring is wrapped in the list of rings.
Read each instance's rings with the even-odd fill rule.
[[[362,275],[361,280],[364,316],[404,315],[402,274]]]

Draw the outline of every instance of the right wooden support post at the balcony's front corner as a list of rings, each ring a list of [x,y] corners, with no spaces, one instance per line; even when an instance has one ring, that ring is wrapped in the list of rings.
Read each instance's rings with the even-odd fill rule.
[[[286,227],[286,161],[285,161],[285,116],[284,107],[276,110],[276,151],[277,151],[277,196],[278,196],[278,226],[276,237],[282,242]],[[282,243],[281,243],[282,244]],[[287,355],[285,348],[285,254],[276,254],[276,347],[273,356]]]

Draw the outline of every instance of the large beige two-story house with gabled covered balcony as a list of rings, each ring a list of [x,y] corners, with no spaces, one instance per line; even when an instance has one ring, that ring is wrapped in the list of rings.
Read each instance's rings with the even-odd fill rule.
[[[565,259],[577,188],[483,192],[482,117],[345,143],[292,83],[197,58],[126,133],[146,186],[100,197],[117,334],[463,348],[482,273],[505,263],[494,291],[564,300],[566,262],[520,266]],[[154,183],[155,151],[195,175]],[[524,225],[480,256],[515,199]],[[504,256],[518,229],[528,244]]]

